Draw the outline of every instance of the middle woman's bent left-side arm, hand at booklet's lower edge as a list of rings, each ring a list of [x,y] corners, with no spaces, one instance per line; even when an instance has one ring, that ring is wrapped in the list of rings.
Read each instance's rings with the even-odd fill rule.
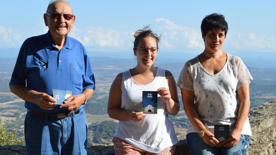
[[[120,108],[122,101],[122,78],[123,73],[118,74],[110,87],[107,106],[108,115],[110,118],[119,121],[125,121],[130,119],[133,121],[141,121],[146,117],[146,115],[143,114],[143,112],[123,110]]]

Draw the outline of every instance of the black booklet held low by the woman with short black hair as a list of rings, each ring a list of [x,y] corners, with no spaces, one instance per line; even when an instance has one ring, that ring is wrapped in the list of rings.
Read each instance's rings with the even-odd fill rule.
[[[226,138],[229,137],[229,125],[214,125],[214,130],[215,130],[215,138],[219,142],[223,142],[226,140]]]

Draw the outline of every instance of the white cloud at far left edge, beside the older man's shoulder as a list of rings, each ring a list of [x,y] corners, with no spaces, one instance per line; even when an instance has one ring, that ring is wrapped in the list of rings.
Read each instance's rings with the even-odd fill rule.
[[[20,34],[15,33],[12,29],[5,28],[0,25],[0,42],[4,43],[5,47],[21,44]]]

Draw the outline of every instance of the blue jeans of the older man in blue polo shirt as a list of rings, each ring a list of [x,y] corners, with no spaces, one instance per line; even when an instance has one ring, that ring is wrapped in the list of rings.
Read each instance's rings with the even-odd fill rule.
[[[62,119],[27,112],[27,154],[87,154],[87,131],[88,122],[83,108],[78,114]]]

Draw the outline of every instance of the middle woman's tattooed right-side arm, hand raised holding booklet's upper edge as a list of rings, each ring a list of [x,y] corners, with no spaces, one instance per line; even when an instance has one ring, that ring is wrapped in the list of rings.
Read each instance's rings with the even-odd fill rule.
[[[165,70],[166,79],[168,82],[169,90],[165,87],[161,87],[157,89],[157,93],[161,96],[161,98],[166,102],[166,109],[170,115],[176,115],[179,111],[179,101],[176,83],[173,78],[173,74]]]

